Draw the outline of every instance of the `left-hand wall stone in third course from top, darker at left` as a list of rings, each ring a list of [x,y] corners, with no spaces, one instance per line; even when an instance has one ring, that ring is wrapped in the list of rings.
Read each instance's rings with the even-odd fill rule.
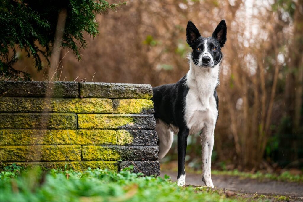
[[[0,129],[76,129],[77,115],[62,113],[0,113]]]

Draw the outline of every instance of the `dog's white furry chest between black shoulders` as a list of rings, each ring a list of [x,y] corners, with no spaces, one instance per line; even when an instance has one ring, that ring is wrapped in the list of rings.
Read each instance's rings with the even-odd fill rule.
[[[189,91],[185,98],[185,122],[189,134],[198,133],[205,124],[215,125],[218,110],[214,90],[218,85],[218,74],[204,72],[200,78],[188,82]]]

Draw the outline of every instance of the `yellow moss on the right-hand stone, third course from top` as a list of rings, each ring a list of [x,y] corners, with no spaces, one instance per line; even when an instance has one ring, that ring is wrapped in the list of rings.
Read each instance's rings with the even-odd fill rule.
[[[78,127],[83,129],[117,129],[133,125],[132,116],[118,114],[78,114]]]

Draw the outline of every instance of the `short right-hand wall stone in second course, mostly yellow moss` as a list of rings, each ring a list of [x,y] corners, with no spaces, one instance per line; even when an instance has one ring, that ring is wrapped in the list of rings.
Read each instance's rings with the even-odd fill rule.
[[[153,114],[154,103],[150,99],[113,99],[115,114]]]

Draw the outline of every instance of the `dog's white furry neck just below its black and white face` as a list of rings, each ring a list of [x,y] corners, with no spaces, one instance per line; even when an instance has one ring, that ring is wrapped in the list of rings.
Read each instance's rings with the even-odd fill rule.
[[[199,91],[209,88],[212,91],[215,90],[219,85],[219,66],[220,63],[212,68],[198,67],[190,59],[185,85],[188,88],[199,89]]]

